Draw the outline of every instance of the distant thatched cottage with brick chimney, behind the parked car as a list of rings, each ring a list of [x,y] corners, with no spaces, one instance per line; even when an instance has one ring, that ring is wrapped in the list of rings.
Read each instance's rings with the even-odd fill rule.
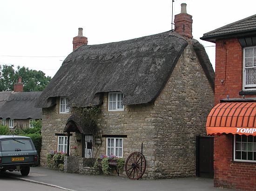
[[[23,92],[21,77],[14,83],[13,91],[0,92],[1,125],[10,129],[28,128],[31,121],[42,119],[42,109],[35,108],[35,102],[42,92]]]

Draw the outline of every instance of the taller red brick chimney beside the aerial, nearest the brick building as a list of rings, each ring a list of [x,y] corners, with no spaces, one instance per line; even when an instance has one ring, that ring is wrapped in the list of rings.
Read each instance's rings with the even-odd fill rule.
[[[175,32],[184,38],[193,38],[192,36],[192,16],[187,13],[187,4],[181,4],[181,13],[176,14],[174,17]]]

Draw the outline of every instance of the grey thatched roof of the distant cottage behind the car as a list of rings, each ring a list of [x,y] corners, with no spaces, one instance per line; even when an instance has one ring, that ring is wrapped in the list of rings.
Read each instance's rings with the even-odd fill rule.
[[[0,118],[41,119],[42,109],[35,102],[42,92],[0,92]]]

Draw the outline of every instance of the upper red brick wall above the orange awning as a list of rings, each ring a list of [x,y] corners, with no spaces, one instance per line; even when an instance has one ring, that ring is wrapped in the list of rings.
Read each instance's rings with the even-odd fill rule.
[[[221,83],[223,80],[223,83]],[[216,41],[215,105],[221,99],[242,98],[243,90],[243,48],[237,38]],[[246,97],[255,97],[248,95]]]

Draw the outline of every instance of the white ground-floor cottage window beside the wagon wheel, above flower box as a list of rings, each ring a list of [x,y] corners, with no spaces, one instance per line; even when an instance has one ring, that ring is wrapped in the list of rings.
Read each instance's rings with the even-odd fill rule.
[[[107,138],[107,155],[123,157],[123,138]]]

